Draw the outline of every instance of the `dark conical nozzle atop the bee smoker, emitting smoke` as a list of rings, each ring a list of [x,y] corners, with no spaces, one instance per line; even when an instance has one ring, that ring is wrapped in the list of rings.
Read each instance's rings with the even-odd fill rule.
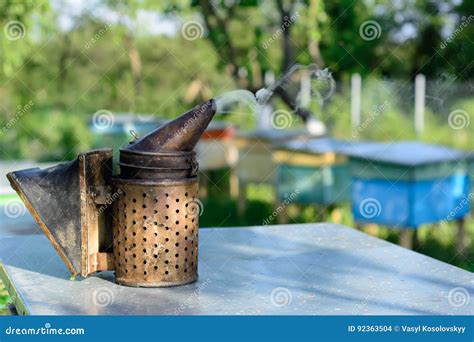
[[[132,142],[122,151],[192,151],[215,113],[216,103],[209,100]]]

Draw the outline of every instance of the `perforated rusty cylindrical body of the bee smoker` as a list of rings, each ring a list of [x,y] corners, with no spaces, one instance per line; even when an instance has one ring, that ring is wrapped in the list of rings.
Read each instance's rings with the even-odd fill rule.
[[[197,279],[198,183],[117,184],[114,202],[116,281],[161,287]]]

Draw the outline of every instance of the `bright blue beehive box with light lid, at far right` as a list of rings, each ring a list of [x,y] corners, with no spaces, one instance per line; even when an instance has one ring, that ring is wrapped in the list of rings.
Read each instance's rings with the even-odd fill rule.
[[[466,152],[398,142],[368,143],[349,154],[358,222],[417,228],[460,219],[470,210]]]

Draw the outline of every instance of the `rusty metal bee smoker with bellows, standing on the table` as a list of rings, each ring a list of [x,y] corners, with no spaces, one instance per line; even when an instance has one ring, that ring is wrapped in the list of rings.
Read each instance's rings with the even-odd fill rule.
[[[198,163],[194,147],[216,112],[210,100],[120,149],[80,153],[7,175],[73,275],[115,270],[127,286],[198,277]]]

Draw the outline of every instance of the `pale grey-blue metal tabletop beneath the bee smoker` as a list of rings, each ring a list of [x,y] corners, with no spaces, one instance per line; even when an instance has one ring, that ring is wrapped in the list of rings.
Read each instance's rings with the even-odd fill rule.
[[[0,275],[21,314],[474,312],[472,273],[341,225],[204,228],[199,257],[194,284],[131,288],[112,272],[69,280],[43,235],[0,238]]]

